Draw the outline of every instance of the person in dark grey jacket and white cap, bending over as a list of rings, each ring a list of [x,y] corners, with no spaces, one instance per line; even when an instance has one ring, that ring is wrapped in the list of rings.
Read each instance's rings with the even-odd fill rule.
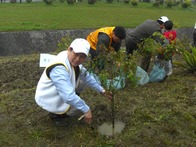
[[[138,44],[140,44],[144,39],[152,37],[157,42],[164,44],[164,40],[159,35],[153,35],[155,32],[162,34],[162,29],[164,28],[164,23],[168,21],[168,17],[162,16],[157,20],[146,20],[139,26],[137,26],[132,31],[127,31],[125,38],[126,53],[133,54],[134,50],[138,49]],[[141,63],[141,67],[148,71],[151,56],[144,58]]]

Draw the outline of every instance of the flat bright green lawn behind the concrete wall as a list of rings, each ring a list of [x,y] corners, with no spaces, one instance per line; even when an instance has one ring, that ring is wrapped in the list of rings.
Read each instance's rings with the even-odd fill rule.
[[[152,3],[139,3],[134,7],[123,2],[107,4],[99,1],[94,5],[86,1],[74,5],[54,2],[46,5],[34,3],[1,3],[0,31],[64,30],[99,28],[102,26],[136,27],[146,19],[166,15],[178,27],[193,27],[196,6],[183,9],[180,6],[154,8]]]

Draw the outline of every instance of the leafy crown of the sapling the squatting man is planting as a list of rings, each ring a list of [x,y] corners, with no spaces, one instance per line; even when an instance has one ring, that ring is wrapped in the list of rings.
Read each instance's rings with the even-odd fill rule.
[[[117,91],[117,85],[120,84],[121,88],[124,87],[124,80],[132,85],[135,85],[137,81],[135,77],[136,59],[134,56],[126,55],[123,51],[109,51],[106,47],[101,46],[99,55],[93,62],[86,62],[85,67],[98,76],[101,85],[112,91],[113,94]]]

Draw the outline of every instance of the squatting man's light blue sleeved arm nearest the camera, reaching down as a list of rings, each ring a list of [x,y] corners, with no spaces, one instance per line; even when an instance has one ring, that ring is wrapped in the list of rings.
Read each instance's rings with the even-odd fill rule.
[[[59,65],[54,67],[50,72],[50,79],[65,103],[84,113],[87,113],[90,110],[85,101],[75,93],[75,88],[70,82],[70,75],[64,66]]]

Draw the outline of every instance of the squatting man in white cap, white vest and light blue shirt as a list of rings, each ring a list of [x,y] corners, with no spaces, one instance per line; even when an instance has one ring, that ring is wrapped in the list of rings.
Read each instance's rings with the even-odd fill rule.
[[[84,87],[102,94],[105,90],[82,66],[89,50],[88,41],[77,38],[45,68],[36,88],[35,101],[51,118],[84,114],[85,122],[91,123],[91,109],[79,94]]]

